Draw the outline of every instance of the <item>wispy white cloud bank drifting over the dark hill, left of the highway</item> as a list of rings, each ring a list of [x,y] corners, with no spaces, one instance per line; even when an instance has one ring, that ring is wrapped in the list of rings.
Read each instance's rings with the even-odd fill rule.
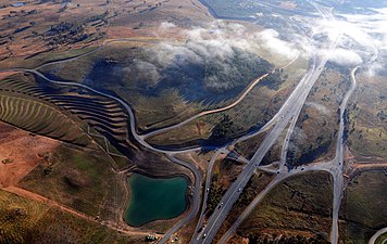
[[[162,23],[159,31],[167,33],[175,27],[176,25],[173,23]],[[209,57],[227,57],[233,54],[233,48],[258,55],[269,52],[272,56],[282,56],[283,60],[295,59],[300,53],[295,43],[282,40],[279,34],[274,29],[248,31],[240,24],[224,21],[214,21],[205,26],[184,29],[180,30],[180,35],[187,39],[185,44],[165,41],[153,49],[157,52],[162,52],[159,61],[166,57],[165,62],[171,62],[172,56],[187,54],[187,57],[197,59],[185,48]],[[163,53],[162,49],[165,48],[171,55]]]

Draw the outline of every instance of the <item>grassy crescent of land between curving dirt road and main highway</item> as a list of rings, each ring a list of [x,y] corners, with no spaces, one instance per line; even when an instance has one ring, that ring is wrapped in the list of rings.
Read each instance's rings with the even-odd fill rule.
[[[173,131],[152,137],[149,141],[165,145],[177,144],[180,141],[196,144],[207,140],[211,144],[213,143],[211,141],[226,142],[247,131],[257,130],[279,110],[298,79],[303,75],[305,65],[304,60],[299,59],[283,72],[273,75],[274,78],[270,76],[261,80],[236,106],[221,113],[204,115]],[[224,101],[217,106],[228,104],[232,104],[232,100]],[[217,134],[219,128],[225,132]]]

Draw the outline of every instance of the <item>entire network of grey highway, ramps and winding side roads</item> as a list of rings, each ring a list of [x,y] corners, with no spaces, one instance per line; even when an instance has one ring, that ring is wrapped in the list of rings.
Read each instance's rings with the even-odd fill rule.
[[[313,2],[311,2],[313,3]],[[323,17],[329,17],[332,18],[332,11],[325,11],[320,9],[316,4],[313,3],[313,5],[319,10],[321,15]],[[334,40],[330,44],[328,50],[333,51],[337,42],[341,36],[338,35],[337,39]],[[192,116],[191,118],[182,121],[179,124],[173,125],[171,127],[162,128],[160,130],[152,131],[148,134],[138,134],[136,130],[136,119],[135,115],[133,112],[133,108],[130,105],[128,105],[125,101],[122,99],[98,91],[91,87],[88,87],[83,84],[78,82],[71,82],[71,81],[58,81],[48,78],[45,76],[42,73],[40,73],[38,69],[41,67],[46,67],[48,65],[52,64],[58,64],[58,63],[63,63],[63,62],[70,62],[77,60],[79,57],[83,57],[85,55],[88,55],[92,52],[96,52],[97,50],[100,50],[103,48],[105,44],[109,44],[114,41],[134,41],[130,39],[120,39],[120,40],[110,40],[107,41],[103,46],[100,48],[92,50],[86,54],[76,56],[76,57],[71,57],[67,60],[62,60],[62,61],[55,61],[55,62],[50,62],[48,64],[41,65],[37,68],[10,68],[10,69],[4,69],[1,72],[23,72],[23,73],[32,73],[35,74],[48,82],[57,84],[60,86],[72,86],[72,87],[80,87],[84,89],[89,90],[90,92],[93,92],[96,94],[112,99],[116,102],[118,102],[127,112],[129,115],[129,126],[130,126],[130,132],[135,140],[140,143],[142,146],[158,153],[165,154],[172,162],[179,164],[184,167],[189,168],[195,177],[195,182],[194,182],[194,188],[192,188],[192,206],[190,207],[189,213],[180,220],[178,221],[172,229],[170,229],[164,236],[159,241],[159,243],[165,243],[170,240],[170,237],[176,233],[184,224],[192,220],[199,213],[199,209],[201,207],[200,216],[199,216],[199,221],[196,227],[196,231],[192,235],[192,239],[190,243],[197,244],[197,243],[212,243],[214,236],[216,235],[220,227],[222,226],[223,221],[226,219],[228,213],[232,210],[233,205],[235,202],[239,198],[240,194],[242,193],[246,184],[254,174],[255,169],[262,169],[262,170],[267,170],[264,167],[260,166],[261,160],[263,159],[264,155],[269,152],[269,150],[273,146],[273,144],[280,138],[280,134],[283,131],[288,128],[288,131],[286,133],[286,137],[284,139],[283,143],[283,149],[282,149],[282,156],[280,156],[280,162],[279,162],[279,167],[276,172],[276,177],[274,180],[272,180],[266,188],[259,193],[259,195],[250,203],[250,205],[244,210],[244,213],[238,217],[236,222],[230,227],[229,230],[222,236],[220,243],[226,243],[227,240],[233,235],[233,233],[237,230],[237,228],[240,226],[240,223],[249,216],[249,214],[254,209],[254,207],[264,198],[264,196],[273,189],[275,188],[278,183],[283,182],[285,179],[289,178],[290,176],[295,176],[297,174],[305,172],[305,171],[313,171],[313,170],[320,170],[320,171],[327,171],[333,176],[334,179],[334,203],[333,203],[333,222],[332,222],[332,233],[330,233],[330,241],[333,244],[338,243],[338,215],[339,215],[339,209],[341,205],[341,197],[342,197],[342,191],[344,191],[344,179],[342,179],[342,170],[344,170],[344,149],[345,149],[345,141],[344,141],[344,131],[345,131],[345,111],[347,107],[348,100],[352,92],[355,89],[355,72],[359,69],[359,66],[354,67],[351,72],[351,86],[349,90],[346,92],[346,95],[340,104],[340,123],[339,123],[339,130],[338,130],[338,136],[337,136],[337,143],[336,143],[336,155],[335,158],[330,162],[325,162],[325,163],[319,163],[319,164],[310,164],[305,165],[303,167],[298,167],[295,169],[288,169],[286,167],[286,155],[287,155],[287,150],[289,145],[289,139],[290,136],[294,131],[294,128],[296,126],[296,121],[299,117],[299,114],[305,103],[305,100],[308,98],[308,94],[310,93],[313,85],[315,81],[319,79],[320,75],[322,74],[328,59],[329,59],[329,52],[326,52],[324,56],[317,56],[315,52],[312,54],[313,59],[310,65],[310,69],[308,73],[303,76],[303,78],[299,81],[298,86],[295,88],[292,93],[289,95],[289,98],[286,100],[286,102],[283,104],[282,108],[277,112],[277,114],[265,125],[263,126],[259,131],[255,131],[253,133],[246,134],[234,142],[230,142],[220,149],[216,149],[212,158],[210,159],[209,166],[208,166],[208,171],[207,171],[207,177],[204,181],[204,188],[201,188],[202,179],[201,179],[201,174],[199,169],[194,166],[190,163],[184,162],[182,159],[177,159],[175,157],[176,154],[180,153],[189,153],[189,152],[195,152],[195,151],[200,151],[201,147],[191,147],[191,149],[182,149],[182,150],[162,150],[158,149],[155,146],[150,145],[146,139],[148,137],[162,133],[165,131],[170,131],[173,129],[176,129],[183,125],[186,125],[189,121],[192,121],[194,119],[204,116],[211,113],[219,113],[222,111],[226,111],[235,106],[237,103],[239,103],[246,94],[263,78],[265,78],[269,74],[265,74],[264,76],[258,78],[255,81],[253,81],[252,85],[250,85],[244,93],[240,95],[236,102],[229,104],[226,107],[223,108],[217,108],[214,111],[209,111],[209,112],[202,112],[196,116]],[[137,40],[136,40],[137,41]],[[377,50],[376,50],[377,51]],[[377,56],[377,53],[375,54]],[[372,59],[376,59],[376,56],[373,56]],[[370,61],[371,62],[371,61]],[[204,223],[204,215],[205,215],[205,209],[207,209],[207,201],[209,196],[209,189],[211,185],[211,177],[212,177],[212,169],[213,166],[216,162],[216,159],[220,157],[222,154],[228,154],[232,152],[230,147],[235,145],[238,142],[245,141],[249,138],[255,137],[259,133],[262,133],[263,131],[267,131],[269,133],[262,141],[260,147],[258,151],[254,153],[251,159],[246,159],[246,158],[239,158],[239,160],[246,163],[246,167],[242,169],[238,178],[233,182],[230,188],[227,190],[227,192],[224,194],[222,197],[219,206],[210,216],[210,218],[207,220]],[[129,140],[127,138],[127,140]],[[269,170],[272,171],[273,170]],[[200,206],[200,200],[201,200],[201,193],[202,193],[202,205]],[[202,228],[203,227],[203,228]],[[377,236],[376,236],[377,237]],[[375,237],[375,239],[376,239]],[[371,241],[370,241],[371,243]]]

